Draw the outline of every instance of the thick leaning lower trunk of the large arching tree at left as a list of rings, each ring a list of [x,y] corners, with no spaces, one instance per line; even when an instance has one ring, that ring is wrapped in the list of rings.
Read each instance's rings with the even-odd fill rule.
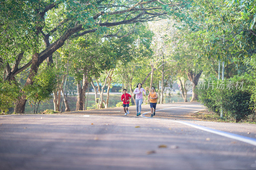
[[[38,53],[33,54],[32,56],[32,64],[30,67],[30,72],[28,74],[28,78],[27,81],[24,85],[24,87],[26,87],[27,85],[31,85],[33,84],[33,78],[35,77],[35,75],[37,74],[38,71],[38,66],[37,63],[38,62]],[[20,92],[22,92],[22,90],[20,90]],[[26,95],[22,95],[21,97],[19,97],[17,99],[17,102],[15,103],[15,108],[14,108],[14,112],[17,114],[22,114],[25,112],[25,105],[26,105],[27,99],[26,99]]]

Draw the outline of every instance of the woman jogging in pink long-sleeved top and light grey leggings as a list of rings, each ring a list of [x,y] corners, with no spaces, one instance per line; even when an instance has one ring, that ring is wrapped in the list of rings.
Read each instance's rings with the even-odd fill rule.
[[[142,96],[143,91],[144,91],[144,96],[146,96],[146,90],[142,88],[141,83],[138,83],[136,89],[134,89],[133,91],[133,94],[136,94],[135,96],[136,111],[137,111],[136,116],[140,116],[141,104],[143,102],[143,96]]]

